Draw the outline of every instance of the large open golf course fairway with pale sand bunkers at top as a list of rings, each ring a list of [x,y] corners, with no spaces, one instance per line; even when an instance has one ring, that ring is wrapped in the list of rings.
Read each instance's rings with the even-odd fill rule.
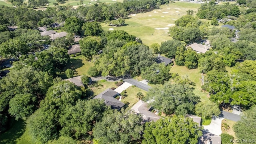
[[[167,33],[168,29],[174,26],[175,20],[186,15],[186,11],[189,9],[197,12],[200,6],[201,4],[175,2],[161,5],[160,9],[150,12],[130,15],[130,18],[125,20],[127,26],[115,27],[105,23],[101,25],[104,30],[109,30],[109,28],[124,30],[129,34],[140,37],[142,42],[148,46],[153,43],[161,44],[161,42],[171,39]]]

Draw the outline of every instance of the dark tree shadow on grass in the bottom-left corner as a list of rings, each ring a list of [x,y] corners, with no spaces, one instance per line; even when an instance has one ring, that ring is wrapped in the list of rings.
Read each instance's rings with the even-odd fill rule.
[[[1,144],[16,144],[16,139],[20,138],[26,130],[26,123],[23,120],[11,120],[9,130],[1,134]]]

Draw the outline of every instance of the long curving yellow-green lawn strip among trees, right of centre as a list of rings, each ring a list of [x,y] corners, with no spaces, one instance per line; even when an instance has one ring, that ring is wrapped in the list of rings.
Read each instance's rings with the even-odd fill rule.
[[[178,73],[180,76],[188,76],[188,78],[196,84],[194,94],[200,96],[202,102],[209,100],[209,98],[207,97],[208,93],[204,92],[201,89],[202,85],[201,85],[200,78],[202,78],[202,75],[198,69],[189,70],[188,68],[186,68],[186,66],[177,66],[176,64],[174,64],[170,72]]]

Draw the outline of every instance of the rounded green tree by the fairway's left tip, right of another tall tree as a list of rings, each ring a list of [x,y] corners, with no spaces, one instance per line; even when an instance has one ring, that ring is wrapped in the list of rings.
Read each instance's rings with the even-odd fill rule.
[[[103,32],[103,29],[98,22],[86,22],[84,23],[82,30],[86,36],[100,36]]]

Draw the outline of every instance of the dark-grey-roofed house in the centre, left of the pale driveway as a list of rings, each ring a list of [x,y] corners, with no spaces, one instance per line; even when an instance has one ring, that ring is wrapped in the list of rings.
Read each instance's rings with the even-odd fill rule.
[[[107,106],[111,106],[111,108],[113,109],[120,110],[125,104],[115,98],[116,96],[118,96],[118,94],[118,92],[108,88],[104,90],[102,93],[95,96],[93,99],[103,99]]]

